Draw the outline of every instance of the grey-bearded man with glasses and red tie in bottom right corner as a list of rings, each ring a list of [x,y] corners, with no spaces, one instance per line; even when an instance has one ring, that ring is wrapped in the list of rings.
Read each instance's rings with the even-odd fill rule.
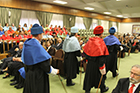
[[[139,93],[140,91],[140,65],[134,65],[129,78],[119,80],[112,93]]]

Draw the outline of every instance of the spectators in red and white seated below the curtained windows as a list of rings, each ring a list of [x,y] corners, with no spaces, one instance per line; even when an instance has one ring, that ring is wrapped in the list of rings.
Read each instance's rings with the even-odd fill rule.
[[[48,27],[48,24],[46,24],[46,27],[44,28],[42,25],[44,33],[45,34],[49,33],[50,35],[52,35],[52,33],[56,33],[56,35],[58,33],[59,35],[62,35],[63,33],[66,35],[68,34],[68,31],[66,30],[65,26],[63,28],[61,28],[60,26],[57,27],[57,25],[54,28],[52,26],[53,25]],[[6,23],[4,27],[2,27],[0,24],[0,35],[3,35],[5,31],[7,31],[9,35],[13,35],[13,33],[18,33],[20,31],[24,31],[27,34],[28,32],[31,32],[30,30],[31,28],[32,28],[32,24],[28,28],[26,23],[24,24],[23,27],[21,27],[21,25],[15,27],[14,24],[12,24],[12,26],[8,26],[8,23]]]

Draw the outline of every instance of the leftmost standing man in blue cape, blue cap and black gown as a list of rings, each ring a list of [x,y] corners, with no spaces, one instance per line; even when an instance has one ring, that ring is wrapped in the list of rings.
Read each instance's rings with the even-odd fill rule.
[[[23,93],[50,93],[48,73],[58,74],[59,70],[50,66],[51,56],[41,46],[43,28],[34,24],[33,38],[24,42],[22,61],[25,64],[26,78]]]

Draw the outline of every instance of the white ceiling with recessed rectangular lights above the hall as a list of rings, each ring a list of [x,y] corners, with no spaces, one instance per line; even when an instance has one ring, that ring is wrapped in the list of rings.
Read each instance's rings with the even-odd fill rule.
[[[50,3],[55,5],[61,5],[53,3],[54,0],[33,0],[38,2]],[[85,10],[84,7],[92,7],[94,10],[91,12],[97,12],[103,14],[103,12],[111,12],[111,16],[123,15],[123,17],[138,18],[140,17],[140,0],[62,0],[68,2],[66,7],[72,7],[76,9]],[[85,10],[90,11],[90,10]]]

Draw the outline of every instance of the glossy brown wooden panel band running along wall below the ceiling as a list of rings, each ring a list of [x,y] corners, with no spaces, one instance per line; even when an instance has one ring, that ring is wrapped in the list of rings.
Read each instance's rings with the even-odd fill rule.
[[[68,14],[68,15],[75,15],[75,16],[81,16],[81,17],[90,17],[95,19],[102,19],[102,20],[108,20],[108,21],[115,21],[115,22],[129,22],[127,20],[122,20],[120,18],[111,17],[105,18],[103,14],[93,13],[95,15],[92,15],[92,12],[69,8],[69,7],[63,7],[63,6],[57,6],[52,4],[46,4],[31,0],[1,0],[0,6],[3,7],[11,7],[11,8],[18,8],[18,9],[25,9],[25,10],[34,10],[34,11],[45,11],[45,12],[52,12],[52,13],[59,13],[59,14]],[[133,20],[137,21],[137,20]],[[137,21],[139,22],[139,21]]]

